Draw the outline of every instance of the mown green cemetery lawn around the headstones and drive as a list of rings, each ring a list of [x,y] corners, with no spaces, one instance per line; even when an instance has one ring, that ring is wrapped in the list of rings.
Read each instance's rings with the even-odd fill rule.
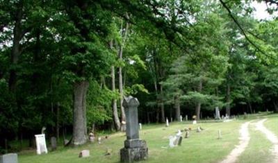
[[[219,162],[229,155],[229,153],[238,145],[240,126],[251,121],[249,126],[250,143],[240,157],[238,162],[267,162],[270,157],[270,148],[272,144],[265,138],[263,133],[255,130],[254,123],[259,119],[268,118],[265,121],[265,127],[275,135],[278,135],[278,114],[259,116],[255,114],[249,119],[234,120],[226,123],[197,123],[189,122],[170,123],[169,127],[163,124],[142,125],[140,138],[147,141],[149,147],[149,158],[144,162]],[[205,130],[196,132],[198,126]],[[183,128],[192,128],[190,138],[184,139],[181,146],[168,148],[170,135],[175,135],[177,130]],[[218,138],[218,130],[222,132],[222,139]],[[105,135],[104,135],[105,136]],[[183,134],[184,136],[184,134]],[[58,148],[57,151],[50,152],[47,155],[36,155],[33,151],[22,151],[19,153],[20,163],[38,162],[119,162],[120,148],[124,146],[124,133],[115,133],[108,135],[108,139],[103,139],[101,144],[92,143],[76,148]],[[49,145],[48,145],[49,146]],[[106,155],[107,149],[112,149],[111,155]],[[79,152],[83,149],[90,150],[90,157],[79,158]]]

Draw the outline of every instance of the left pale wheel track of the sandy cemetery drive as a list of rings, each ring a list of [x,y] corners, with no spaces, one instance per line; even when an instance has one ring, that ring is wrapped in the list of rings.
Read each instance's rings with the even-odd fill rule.
[[[231,153],[220,163],[236,162],[236,160],[238,159],[238,156],[241,153],[243,153],[243,151],[245,151],[245,148],[248,146],[249,141],[250,141],[250,135],[249,135],[249,131],[248,131],[248,126],[249,126],[250,122],[251,121],[243,123],[243,125],[241,126],[241,128],[239,130],[240,141],[239,141],[238,146],[236,146],[236,148],[234,148],[233,151],[231,151]]]

